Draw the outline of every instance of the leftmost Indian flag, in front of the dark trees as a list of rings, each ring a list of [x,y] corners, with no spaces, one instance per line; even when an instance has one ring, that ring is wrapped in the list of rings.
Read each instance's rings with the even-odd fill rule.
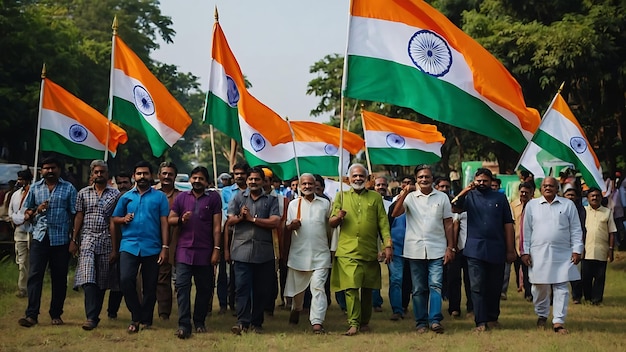
[[[102,159],[109,128],[109,151],[128,140],[126,131],[96,109],[44,78],[41,92],[40,146],[77,159]]]

